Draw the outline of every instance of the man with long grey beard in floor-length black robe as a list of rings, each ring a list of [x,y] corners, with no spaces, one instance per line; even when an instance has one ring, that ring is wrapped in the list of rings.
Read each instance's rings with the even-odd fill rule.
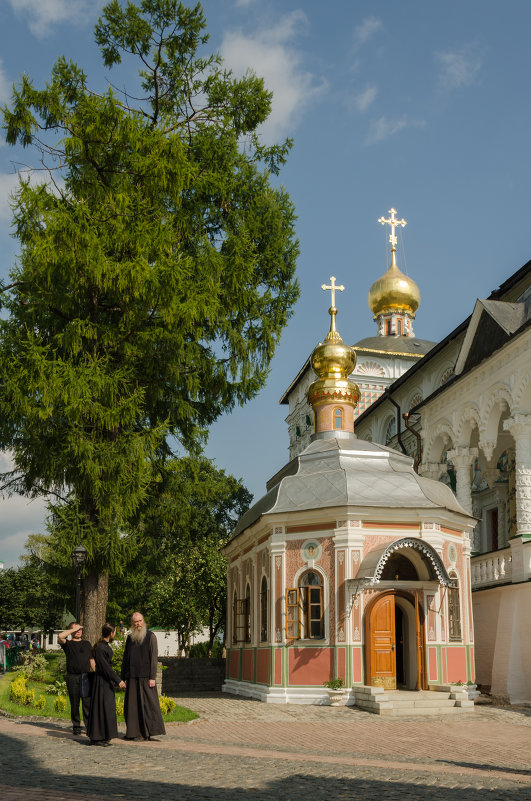
[[[126,682],[126,740],[152,740],[156,734],[166,734],[157,693],[157,657],[157,638],[148,631],[144,616],[135,612],[121,672]]]

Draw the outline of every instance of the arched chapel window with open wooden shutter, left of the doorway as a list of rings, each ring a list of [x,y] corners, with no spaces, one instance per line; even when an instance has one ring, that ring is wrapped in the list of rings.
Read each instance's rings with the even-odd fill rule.
[[[323,585],[321,576],[308,570],[299,586],[286,593],[287,637],[289,640],[324,637]]]

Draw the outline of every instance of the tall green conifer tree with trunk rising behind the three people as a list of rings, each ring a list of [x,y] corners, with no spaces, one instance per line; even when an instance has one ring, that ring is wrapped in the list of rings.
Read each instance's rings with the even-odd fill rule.
[[[258,392],[298,291],[293,207],[271,181],[289,143],[260,145],[262,80],[204,55],[199,4],[113,0],[96,40],[109,68],[137,60],[140,85],[98,93],[60,58],[3,110],[50,180],[14,199],[0,321],[4,486],[54,495],[65,549],[88,549],[89,637],[169,441],[197,450]]]

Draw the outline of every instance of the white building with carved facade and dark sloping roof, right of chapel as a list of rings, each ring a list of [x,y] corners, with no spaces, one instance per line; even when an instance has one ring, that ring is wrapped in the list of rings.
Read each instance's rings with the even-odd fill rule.
[[[531,262],[405,373],[356,426],[359,437],[415,455],[477,519],[472,587],[478,682],[531,702]],[[423,400],[411,403],[412,397]]]

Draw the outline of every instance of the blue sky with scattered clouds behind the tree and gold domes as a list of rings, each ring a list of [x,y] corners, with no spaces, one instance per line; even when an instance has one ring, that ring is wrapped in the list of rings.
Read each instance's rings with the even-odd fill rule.
[[[94,88],[116,82],[93,27],[99,0],[0,0],[0,101],[25,72],[40,86],[59,55]],[[206,454],[255,495],[288,459],[284,390],[326,335],[376,334],[367,306],[389,264],[378,218],[407,226],[398,263],[419,285],[415,333],[438,341],[531,258],[529,0],[205,0],[209,45],[273,92],[264,142],[293,138],[279,181],[298,215],[301,296],[265,388],[212,428]],[[125,80],[127,76],[120,76]],[[0,275],[16,257],[9,193],[28,154],[0,143]],[[8,456],[0,457],[8,464]],[[17,563],[44,504],[0,500],[0,560]]]

